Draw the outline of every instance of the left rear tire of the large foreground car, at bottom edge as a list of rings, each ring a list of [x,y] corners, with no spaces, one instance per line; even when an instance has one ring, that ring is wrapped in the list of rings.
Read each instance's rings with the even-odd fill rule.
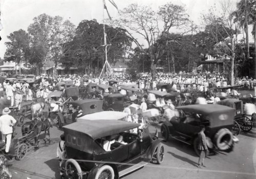
[[[71,168],[72,167],[72,168]],[[72,170],[73,169],[73,170]],[[74,160],[74,159],[69,159],[67,160],[65,164],[65,170],[66,170],[66,175],[67,177],[70,178],[71,174],[73,174],[73,178],[76,179],[82,179],[82,170],[80,165]],[[72,171],[70,171],[72,170]],[[69,172],[70,171],[70,172]]]

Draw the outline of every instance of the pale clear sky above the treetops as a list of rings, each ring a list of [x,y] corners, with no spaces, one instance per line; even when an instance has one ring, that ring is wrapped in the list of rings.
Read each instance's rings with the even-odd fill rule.
[[[117,16],[117,10],[106,1],[111,16]],[[119,9],[130,4],[148,5],[157,10],[159,6],[168,2],[177,5],[185,5],[187,13],[195,24],[200,25],[201,13],[218,4],[221,0],[114,0]],[[96,19],[102,23],[103,8],[102,0],[0,0],[1,20],[4,29],[0,31],[0,57],[3,58],[8,41],[7,36],[13,31],[23,29],[27,31],[28,26],[33,23],[33,18],[42,13],[51,16],[62,16],[65,20],[78,26],[83,19]],[[106,13],[105,17],[106,17]]]

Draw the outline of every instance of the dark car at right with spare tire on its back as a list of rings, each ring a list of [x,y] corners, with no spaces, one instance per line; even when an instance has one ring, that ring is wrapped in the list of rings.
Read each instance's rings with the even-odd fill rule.
[[[170,121],[164,121],[161,126],[161,133],[166,141],[172,136],[193,145],[199,154],[198,132],[200,125],[204,125],[208,148],[223,151],[232,149],[235,109],[218,104],[195,104],[177,107],[175,113]]]

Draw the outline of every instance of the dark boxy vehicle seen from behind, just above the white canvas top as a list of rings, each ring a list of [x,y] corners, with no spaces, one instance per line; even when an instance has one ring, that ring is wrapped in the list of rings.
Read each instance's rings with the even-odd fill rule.
[[[124,96],[119,93],[104,96],[103,110],[122,111],[123,103],[124,103]]]

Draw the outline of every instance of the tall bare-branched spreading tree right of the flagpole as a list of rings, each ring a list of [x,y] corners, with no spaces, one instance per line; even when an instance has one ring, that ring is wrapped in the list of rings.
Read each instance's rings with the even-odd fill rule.
[[[188,22],[187,17],[183,6],[172,3],[161,6],[158,12],[153,11],[149,6],[131,4],[120,11],[118,19],[112,21],[112,25],[125,29],[125,33],[133,39],[141,52],[150,57],[152,85],[156,79],[156,64],[163,57],[165,46],[170,41],[177,40],[169,38],[171,28],[180,28],[184,31]],[[146,41],[148,51],[145,51],[143,43],[136,38],[138,36]]]

